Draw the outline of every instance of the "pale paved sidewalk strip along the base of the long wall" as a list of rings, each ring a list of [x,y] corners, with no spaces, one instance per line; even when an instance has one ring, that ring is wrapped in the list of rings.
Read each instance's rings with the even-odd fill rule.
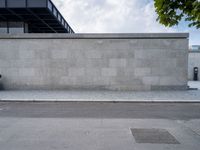
[[[200,82],[189,83],[191,88]],[[0,91],[0,101],[89,101],[89,102],[200,102],[200,90],[188,91]]]

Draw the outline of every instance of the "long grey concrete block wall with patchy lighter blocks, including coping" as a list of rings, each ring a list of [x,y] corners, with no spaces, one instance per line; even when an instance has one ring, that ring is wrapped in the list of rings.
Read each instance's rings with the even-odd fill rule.
[[[186,89],[188,34],[0,35],[4,89]]]

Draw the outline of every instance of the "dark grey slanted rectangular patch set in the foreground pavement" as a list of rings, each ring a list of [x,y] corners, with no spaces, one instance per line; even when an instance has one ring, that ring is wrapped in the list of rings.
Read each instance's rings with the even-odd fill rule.
[[[137,143],[180,144],[165,129],[131,129]]]

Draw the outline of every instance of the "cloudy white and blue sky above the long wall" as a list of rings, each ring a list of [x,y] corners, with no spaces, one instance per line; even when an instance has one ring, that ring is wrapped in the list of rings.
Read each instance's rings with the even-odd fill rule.
[[[200,29],[164,27],[157,21],[153,0],[52,0],[76,33],[189,32],[190,45],[200,45]]]

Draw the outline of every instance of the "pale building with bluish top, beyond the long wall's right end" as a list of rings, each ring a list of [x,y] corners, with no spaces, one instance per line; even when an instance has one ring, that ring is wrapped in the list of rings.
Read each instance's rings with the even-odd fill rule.
[[[198,67],[199,69],[198,77],[200,79],[200,45],[193,45],[189,49],[189,59],[188,59],[189,80],[193,80],[195,67]]]

